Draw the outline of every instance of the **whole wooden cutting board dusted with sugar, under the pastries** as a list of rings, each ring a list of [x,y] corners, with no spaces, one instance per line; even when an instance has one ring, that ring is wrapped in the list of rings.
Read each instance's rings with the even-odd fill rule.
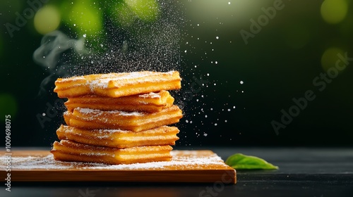
[[[60,162],[49,151],[0,153],[1,169],[11,165],[11,182],[237,182],[236,171],[213,151],[172,151],[170,162],[131,165]],[[7,173],[1,170],[1,179]]]

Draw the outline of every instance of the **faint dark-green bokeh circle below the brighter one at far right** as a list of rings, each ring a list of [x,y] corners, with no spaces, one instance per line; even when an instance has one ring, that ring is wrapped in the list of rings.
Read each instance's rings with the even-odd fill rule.
[[[341,54],[344,57],[345,51],[339,48],[331,47],[323,52],[323,56],[321,56],[321,66],[325,72],[327,72],[330,68],[335,68],[337,61],[340,60],[338,54]],[[342,64],[342,62],[340,63]],[[337,70],[339,73],[342,71],[343,70]]]

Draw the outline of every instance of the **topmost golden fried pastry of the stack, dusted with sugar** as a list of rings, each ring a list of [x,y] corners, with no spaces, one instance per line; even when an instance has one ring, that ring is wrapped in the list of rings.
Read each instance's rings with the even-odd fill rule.
[[[59,98],[87,94],[121,97],[181,88],[179,72],[121,72],[59,78],[55,82]]]

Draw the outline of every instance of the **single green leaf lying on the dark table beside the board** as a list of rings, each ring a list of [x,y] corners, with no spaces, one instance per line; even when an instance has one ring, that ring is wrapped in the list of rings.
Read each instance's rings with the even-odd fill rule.
[[[225,161],[227,165],[236,170],[277,170],[278,167],[268,163],[262,158],[237,153],[230,155]]]

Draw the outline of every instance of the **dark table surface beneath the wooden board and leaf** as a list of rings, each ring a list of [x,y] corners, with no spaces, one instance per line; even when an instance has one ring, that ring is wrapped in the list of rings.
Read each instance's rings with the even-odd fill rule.
[[[17,148],[17,150],[20,148]],[[22,148],[43,149],[43,148]],[[181,148],[176,148],[182,150]],[[256,155],[280,170],[238,171],[237,184],[116,182],[11,183],[0,196],[353,196],[353,148],[212,148],[224,160],[234,153]]]

